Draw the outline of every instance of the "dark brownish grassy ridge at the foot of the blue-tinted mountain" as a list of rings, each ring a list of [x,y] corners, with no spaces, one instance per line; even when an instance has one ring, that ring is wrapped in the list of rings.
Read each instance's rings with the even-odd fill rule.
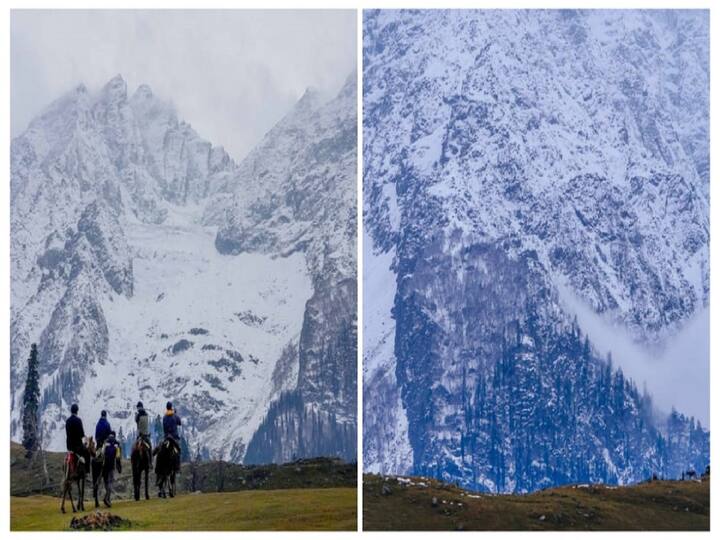
[[[412,481],[415,485],[365,475],[363,529],[710,530],[709,479],[617,488],[565,486],[499,496],[433,480]],[[389,494],[383,494],[383,485]],[[437,505],[432,504],[433,497]]]

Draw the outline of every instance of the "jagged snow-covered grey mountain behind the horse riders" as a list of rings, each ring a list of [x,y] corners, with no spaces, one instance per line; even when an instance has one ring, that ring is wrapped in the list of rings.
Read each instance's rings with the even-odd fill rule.
[[[191,447],[236,461],[284,393],[341,406],[337,422],[354,426],[355,349],[338,357],[305,336],[318,297],[332,296],[330,314],[356,311],[355,92],[352,78],[329,102],[309,92],[240,164],[120,76],[62,96],[12,141],[13,439],[33,342],[50,449],[64,447],[72,402],[86,426],[107,409],[131,436],[138,400],[152,414],[172,400]],[[246,228],[264,243],[243,241]],[[343,324],[354,331],[338,316],[316,339]],[[317,369],[329,362],[341,365]],[[343,392],[305,390],[323,385]]]

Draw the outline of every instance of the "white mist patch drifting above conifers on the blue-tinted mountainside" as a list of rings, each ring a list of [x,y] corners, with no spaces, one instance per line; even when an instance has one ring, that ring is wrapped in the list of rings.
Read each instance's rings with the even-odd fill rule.
[[[652,350],[636,342],[628,330],[596,313],[572,290],[558,285],[560,301],[587,333],[596,351],[612,354],[613,364],[638,388],[647,387],[661,412],[672,407],[694,416],[705,428],[710,420],[710,318],[703,308],[665,343]]]

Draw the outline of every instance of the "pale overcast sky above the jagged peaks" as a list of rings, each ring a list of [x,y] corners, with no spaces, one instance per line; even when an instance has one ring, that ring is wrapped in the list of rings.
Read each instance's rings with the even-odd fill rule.
[[[309,86],[356,66],[355,11],[14,11],[11,130],[80,82],[146,83],[240,160]]]

